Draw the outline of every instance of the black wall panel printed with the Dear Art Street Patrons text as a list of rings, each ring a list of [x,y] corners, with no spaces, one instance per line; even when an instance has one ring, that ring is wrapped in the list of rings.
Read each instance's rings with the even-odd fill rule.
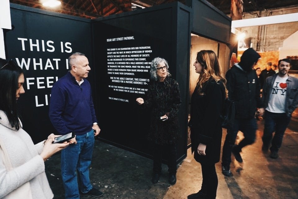
[[[150,110],[142,109],[136,98],[146,96],[151,60],[162,57],[180,87],[177,160],[186,157],[190,10],[174,2],[93,21],[102,140],[151,156],[146,140]]]

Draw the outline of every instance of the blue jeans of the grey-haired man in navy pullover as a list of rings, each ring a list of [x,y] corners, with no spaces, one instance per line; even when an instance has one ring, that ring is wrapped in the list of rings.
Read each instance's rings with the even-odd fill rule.
[[[79,189],[87,193],[93,188],[89,179],[89,166],[94,147],[94,131],[92,129],[84,135],[77,135],[75,139],[77,144],[70,144],[61,151],[61,174],[65,198],[80,198]]]

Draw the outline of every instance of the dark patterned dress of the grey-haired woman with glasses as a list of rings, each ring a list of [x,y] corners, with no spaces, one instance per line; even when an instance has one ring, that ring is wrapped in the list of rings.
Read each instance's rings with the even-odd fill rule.
[[[177,117],[180,105],[178,82],[169,77],[164,82],[150,82],[144,100],[144,106],[151,110],[148,140],[160,145],[176,142],[181,136]],[[161,121],[160,117],[165,114],[168,120]]]

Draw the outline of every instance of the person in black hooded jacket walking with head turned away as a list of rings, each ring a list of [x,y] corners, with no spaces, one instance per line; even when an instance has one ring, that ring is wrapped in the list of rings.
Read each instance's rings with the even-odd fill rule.
[[[260,55],[248,48],[241,56],[241,61],[226,73],[228,98],[235,101],[236,118],[233,128],[227,130],[222,155],[222,172],[225,176],[232,176],[230,170],[231,153],[238,162],[242,162],[241,149],[255,142],[257,123],[255,112],[261,106],[260,82],[253,70]],[[235,145],[238,130],[244,134],[244,139]]]

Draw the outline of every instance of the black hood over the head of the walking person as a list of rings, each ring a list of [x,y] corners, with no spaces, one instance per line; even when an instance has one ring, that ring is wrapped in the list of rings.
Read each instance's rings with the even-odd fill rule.
[[[243,70],[249,72],[252,70],[252,67],[255,62],[260,59],[260,55],[252,48],[248,48],[246,51],[243,52],[239,65]]]

